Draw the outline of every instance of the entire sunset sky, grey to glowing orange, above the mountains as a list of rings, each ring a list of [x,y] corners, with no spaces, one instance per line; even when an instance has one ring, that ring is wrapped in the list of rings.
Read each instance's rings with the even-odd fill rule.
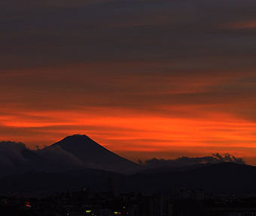
[[[0,140],[256,165],[254,0],[0,1]]]

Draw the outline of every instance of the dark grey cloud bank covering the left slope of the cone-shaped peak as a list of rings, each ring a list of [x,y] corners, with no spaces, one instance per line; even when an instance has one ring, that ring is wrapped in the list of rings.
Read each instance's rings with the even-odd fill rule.
[[[84,167],[84,163],[59,145],[32,151],[22,142],[0,142],[0,176],[31,170],[59,172],[80,167]]]

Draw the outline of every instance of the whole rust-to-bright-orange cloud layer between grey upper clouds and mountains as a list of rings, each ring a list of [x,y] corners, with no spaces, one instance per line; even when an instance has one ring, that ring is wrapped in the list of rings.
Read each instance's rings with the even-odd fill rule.
[[[11,71],[0,80],[0,139],[35,148],[87,133],[133,160],[216,151],[253,157],[254,72],[190,71],[193,62],[187,64],[92,62]]]

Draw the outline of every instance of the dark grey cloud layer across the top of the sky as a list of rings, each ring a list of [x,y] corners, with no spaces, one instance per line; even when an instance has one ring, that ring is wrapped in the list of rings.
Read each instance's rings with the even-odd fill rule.
[[[222,30],[255,19],[251,1],[11,2],[1,9],[2,67],[203,57],[242,64],[255,54],[255,31]]]

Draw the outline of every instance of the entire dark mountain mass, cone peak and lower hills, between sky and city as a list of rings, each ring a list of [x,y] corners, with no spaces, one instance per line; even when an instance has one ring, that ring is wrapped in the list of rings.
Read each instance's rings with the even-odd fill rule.
[[[194,161],[198,158],[187,159]],[[256,192],[256,166],[243,163],[191,164],[153,168],[139,165],[114,154],[86,135],[67,136],[34,151],[21,142],[0,142],[0,193],[51,193],[81,187],[104,191],[109,190],[113,176],[123,192],[165,193],[182,187],[200,187],[221,193]]]

